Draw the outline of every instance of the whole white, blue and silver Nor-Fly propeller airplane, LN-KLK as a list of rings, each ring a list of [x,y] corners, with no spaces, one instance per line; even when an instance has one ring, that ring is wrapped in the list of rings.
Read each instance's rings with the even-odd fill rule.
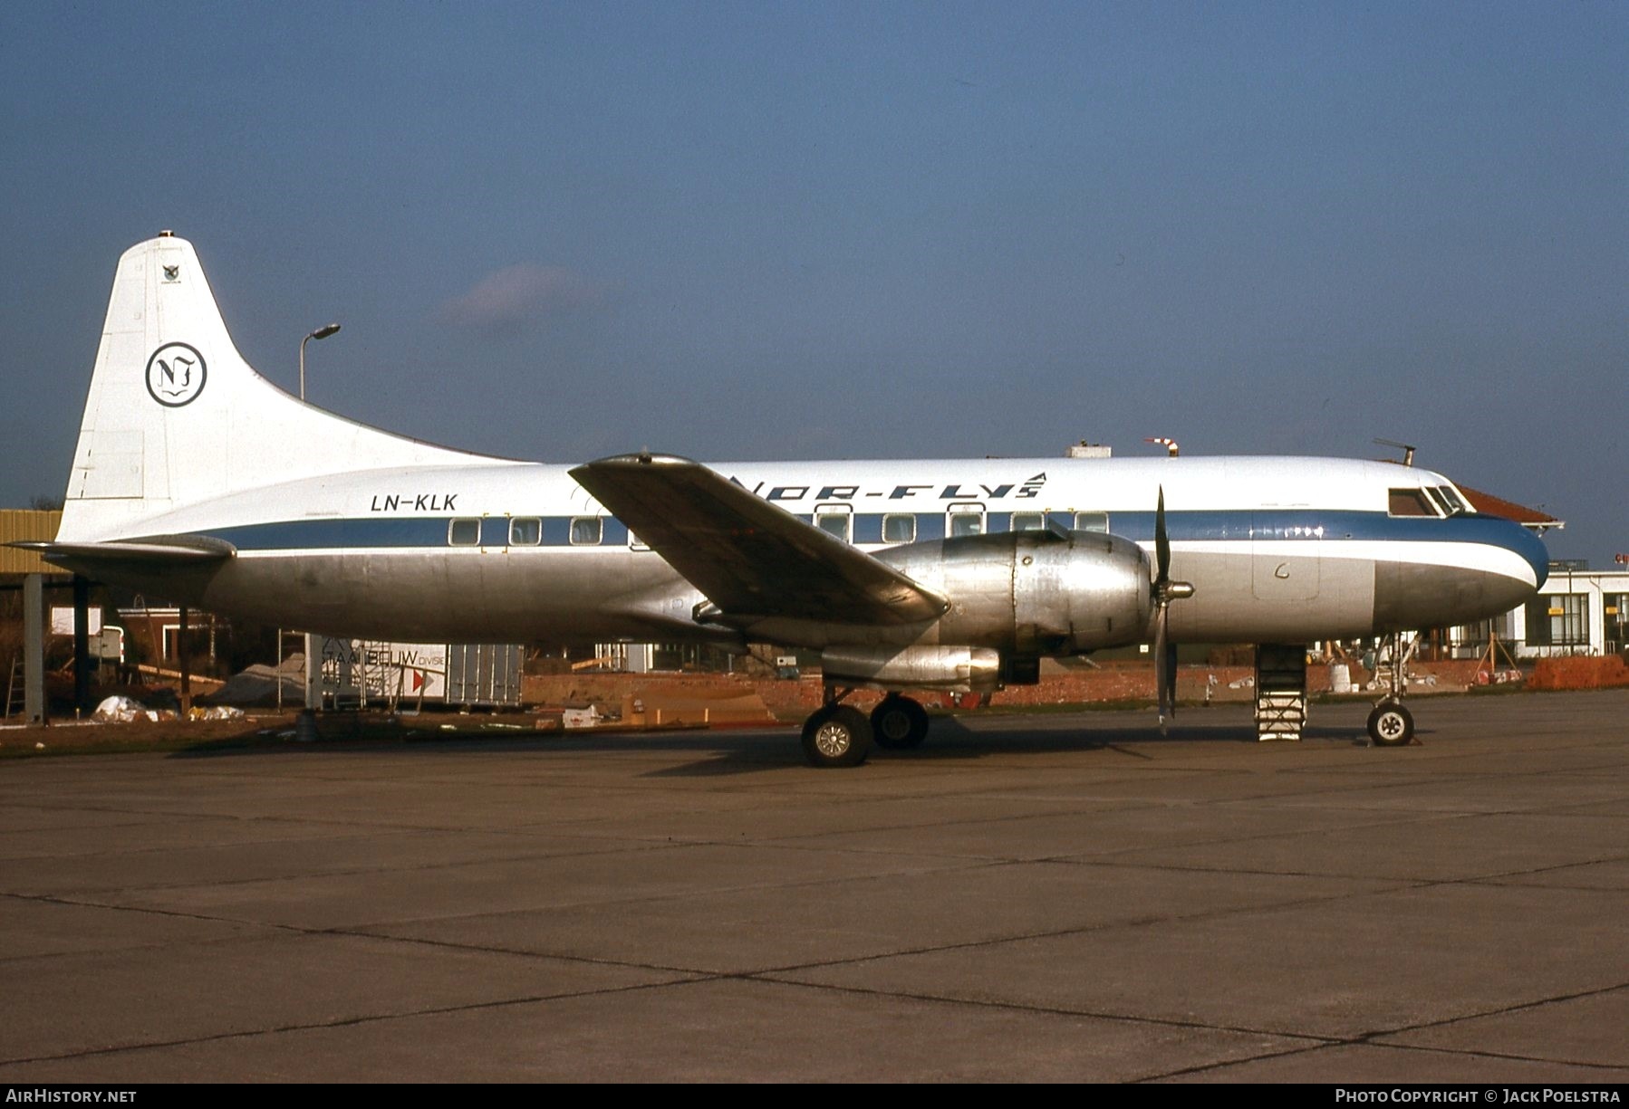
[[[231,617],[409,642],[818,651],[816,767],[929,730],[907,690],[1039,681],[1043,658],[1468,624],[1544,544],[1442,474],[1331,458],[727,462],[490,458],[326,412],[238,353],[192,244],[121,259],[46,559]],[[870,713],[855,689],[886,695]],[[1258,700],[1259,708],[1259,700]],[[1377,744],[1414,723],[1398,694]]]

